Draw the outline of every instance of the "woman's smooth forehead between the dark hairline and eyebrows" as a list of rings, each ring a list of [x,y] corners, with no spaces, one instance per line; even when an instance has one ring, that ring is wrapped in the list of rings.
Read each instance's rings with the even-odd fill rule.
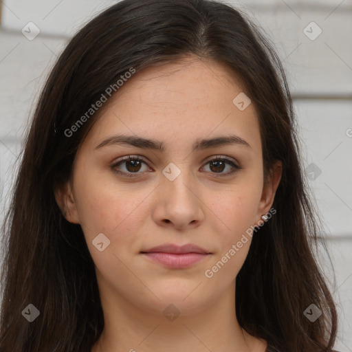
[[[231,69],[215,61],[186,57],[147,67],[127,80],[109,100],[89,139],[113,133],[168,142],[236,133],[261,148],[253,104],[241,111],[233,100],[245,94]],[[161,138],[163,137],[164,138]]]

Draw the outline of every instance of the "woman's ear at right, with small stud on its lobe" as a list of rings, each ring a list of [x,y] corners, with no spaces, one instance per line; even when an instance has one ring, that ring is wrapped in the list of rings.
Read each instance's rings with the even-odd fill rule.
[[[283,164],[276,160],[274,165],[270,170],[270,175],[263,185],[263,192],[261,195],[261,201],[259,203],[258,214],[256,223],[261,219],[261,217],[267,214],[272,208],[272,203],[274,203],[274,197],[278,185],[281,181],[281,175],[283,173]]]

